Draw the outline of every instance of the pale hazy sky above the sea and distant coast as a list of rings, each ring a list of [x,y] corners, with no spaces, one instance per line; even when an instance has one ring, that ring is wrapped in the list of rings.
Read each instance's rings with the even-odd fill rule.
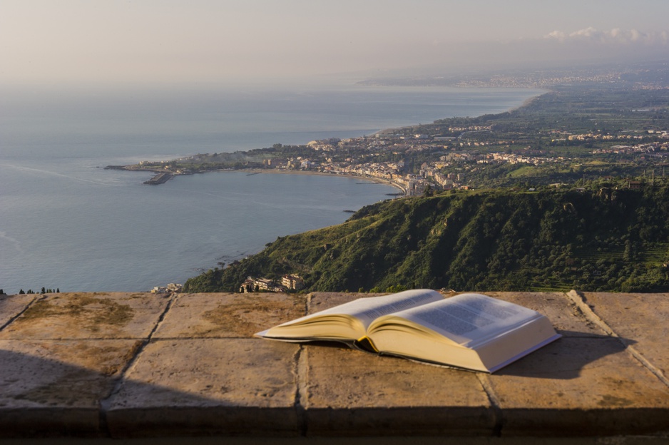
[[[0,0],[0,83],[662,60],[668,17],[668,0]]]

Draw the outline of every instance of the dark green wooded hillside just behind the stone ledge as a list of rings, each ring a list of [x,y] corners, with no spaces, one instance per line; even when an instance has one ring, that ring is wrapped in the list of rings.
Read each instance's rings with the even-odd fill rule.
[[[185,283],[235,292],[299,274],[308,291],[669,290],[669,185],[444,192],[369,205]]]

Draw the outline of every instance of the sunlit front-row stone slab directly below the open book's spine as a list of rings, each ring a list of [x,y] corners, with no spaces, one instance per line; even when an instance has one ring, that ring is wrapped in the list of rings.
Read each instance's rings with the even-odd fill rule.
[[[477,374],[305,345],[307,434],[493,434],[494,411]]]

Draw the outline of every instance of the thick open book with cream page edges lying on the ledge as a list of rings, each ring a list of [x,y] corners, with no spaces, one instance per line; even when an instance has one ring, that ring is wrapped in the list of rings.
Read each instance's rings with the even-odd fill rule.
[[[380,354],[495,372],[561,337],[538,312],[481,294],[407,290],[360,298],[258,332],[289,342],[336,340]]]

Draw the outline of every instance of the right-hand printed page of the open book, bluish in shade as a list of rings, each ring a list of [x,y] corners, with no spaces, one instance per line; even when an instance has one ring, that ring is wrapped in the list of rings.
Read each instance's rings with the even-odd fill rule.
[[[473,342],[541,317],[526,307],[480,294],[456,295],[393,316],[421,324],[470,347]]]

